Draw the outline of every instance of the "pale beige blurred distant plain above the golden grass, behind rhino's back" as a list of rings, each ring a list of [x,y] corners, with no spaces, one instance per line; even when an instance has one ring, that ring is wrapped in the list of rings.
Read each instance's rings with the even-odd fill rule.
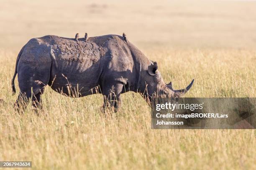
[[[44,35],[128,36],[138,47],[251,48],[251,0],[0,0],[0,48]]]

